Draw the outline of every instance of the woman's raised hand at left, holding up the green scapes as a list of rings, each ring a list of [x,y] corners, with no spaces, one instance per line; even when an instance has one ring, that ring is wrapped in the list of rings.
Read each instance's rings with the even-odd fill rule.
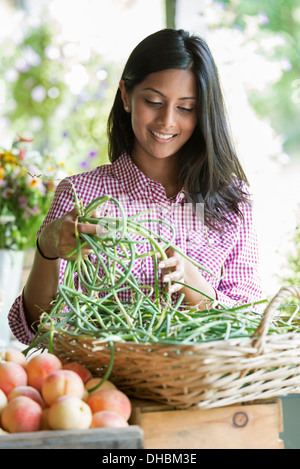
[[[39,246],[46,257],[59,257],[66,260],[75,260],[76,253],[68,257],[68,254],[76,247],[75,229],[79,233],[96,234],[97,225],[77,222],[78,212],[74,208],[61,218],[48,223],[39,236]],[[96,214],[94,214],[96,216]],[[90,254],[89,246],[83,246],[82,256]]]

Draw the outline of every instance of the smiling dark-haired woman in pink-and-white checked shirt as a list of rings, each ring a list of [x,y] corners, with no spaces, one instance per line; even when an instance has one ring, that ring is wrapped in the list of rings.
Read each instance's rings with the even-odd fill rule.
[[[144,39],[125,65],[108,135],[111,164],[70,178],[83,205],[110,194],[125,201],[128,213],[150,207],[157,218],[171,223],[177,246],[213,273],[167,250],[159,265],[161,284],[171,282],[170,293],[183,292],[186,302],[201,308],[207,297],[228,306],[261,299],[248,183],[230,139],[218,72],[205,41],[172,29]],[[66,179],[39,230],[23,294],[9,313],[12,332],[21,342],[31,341],[32,324],[41,310],[49,310],[62,282],[67,254],[75,246],[76,217]],[[79,223],[78,231],[95,233],[96,226]],[[83,255],[89,253],[83,249]],[[135,275],[153,283],[151,259],[136,266]]]

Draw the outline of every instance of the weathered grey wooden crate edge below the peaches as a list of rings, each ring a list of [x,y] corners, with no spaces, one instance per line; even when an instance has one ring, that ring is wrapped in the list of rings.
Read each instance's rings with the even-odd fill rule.
[[[1,449],[142,449],[140,427],[40,431],[0,435]]]

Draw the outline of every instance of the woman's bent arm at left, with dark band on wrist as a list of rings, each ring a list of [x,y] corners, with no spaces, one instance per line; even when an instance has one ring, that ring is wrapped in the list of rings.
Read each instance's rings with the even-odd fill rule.
[[[84,205],[101,193],[100,183],[95,184],[94,173],[90,179],[81,175],[71,177],[78,197],[82,197],[84,187]],[[67,254],[75,247],[75,221],[73,184],[70,179],[62,180],[56,188],[53,201],[45,220],[39,229],[38,239],[41,252],[46,257],[59,257],[57,260],[44,259],[37,251],[31,272],[21,295],[11,306],[8,323],[14,336],[22,343],[29,344],[34,337],[31,325],[39,319],[42,311],[49,310],[50,303],[56,295],[58,284],[62,283]],[[77,225],[78,231],[94,232],[95,225]],[[89,249],[83,254],[89,253]]]

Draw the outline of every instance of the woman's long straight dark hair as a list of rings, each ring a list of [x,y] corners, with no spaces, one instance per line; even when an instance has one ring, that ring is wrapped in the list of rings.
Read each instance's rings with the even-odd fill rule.
[[[163,29],[132,51],[121,79],[130,92],[150,73],[167,69],[191,70],[198,88],[198,124],[179,155],[179,182],[189,202],[204,203],[205,222],[221,229],[226,212],[241,217],[239,204],[247,202],[248,184],[237,158],[226,118],[218,70],[205,40],[184,30]],[[109,158],[131,153],[134,134],[130,114],[118,89],[108,118]]]

